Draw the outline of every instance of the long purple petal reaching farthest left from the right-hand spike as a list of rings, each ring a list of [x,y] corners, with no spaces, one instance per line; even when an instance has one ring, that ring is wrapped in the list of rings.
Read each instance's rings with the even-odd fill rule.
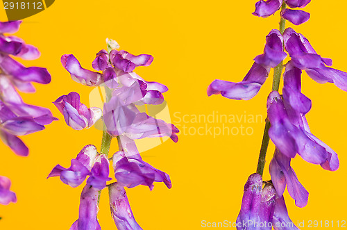
[[[249,100],[257,95],[260,87],[269,76],[270,68],[253,63],[242,82],[234,83],[229,81],[214,80],[208,86],[208,96],[221,94],[223,97],[236,100]]]

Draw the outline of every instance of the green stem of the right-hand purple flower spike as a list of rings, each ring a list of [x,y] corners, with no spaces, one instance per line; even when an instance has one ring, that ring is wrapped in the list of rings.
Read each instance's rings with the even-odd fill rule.
[[[285,2],[283,2],[281,10],[284,10],[286,7],[287,5],[285,4]],[[280,33],[283,34],[284,32],[285,32],[285,19],[281,17],[280,18]],[[284,44],[283,44],[283,48],[284,48]],[[278,89],[280,88],[280,79],[282,75],[282,70],[283,70],[283,61],[273,69],[273,82],[272,82],[273,91],[278,91]],[[260,147],[260,154],[259,154],[258,164],[257,164],[257,173],[260,175],[263,174],[265,163],[266,163],[266,151],[267,151],[267,147],[269,146],[269,140],[270,140],[269,138],[270,126],[271,124],[269,120],[266,119],[264,134],[262,138],[262,146]]]

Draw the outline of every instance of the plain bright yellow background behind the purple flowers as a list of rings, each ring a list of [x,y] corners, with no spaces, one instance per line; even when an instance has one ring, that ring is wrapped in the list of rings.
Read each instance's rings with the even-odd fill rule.
[[[46,106],[60,119],[44,131],[23,140],[30,155],[22,158],[0,143],[0,174],[10,177],[17,204],[0,206],[1,230],[69,229],[78,217],[82,186],[70,188],[58,177],[46,179],[56,164],[69,167],[84,145],[101,144],[101,131],[94,128],[74,131],[51,104],[60,95],[79,92],[88,104],[91,88],[72,81],[60,64],[62,54],[74,54],[83,67],[91,69],[96,52],[105,48],[105,38],[119,42],[132,54],[154,56],[150,67],[137,74],[148,81],[169,87],[164,94],[172,115],[219,114],[266,116],[266,97],[271,77],[251,101],[208,97],[207,86],[214,79],[241,81],[262,54],[265,36],[278,27],[279,15],[262,19],[251,15],[254,1],[67,1],[60,0],[43,12],[24,19],[15,35],[34,44],[42,52],[27,66],[46,67],[51,84],[35,87],[35,94],[22,94],[24,101]],[[347,71],[347,1],[315,0],[305,10],[309,22],[294,26],[323,57],[332,58],[333,67]],[[1,9],[1,20],[6,15]],[[287,24],[289,25],[289,23]],[[293,26],[293,25],[290,25]],[[347,92],[335,85],[315,83],[303,74],[303,92],[312,99],[307,120],[312,133],[339,154],[340,169],[327,172],[297,157],[292,166],[310,192],[309,203],[298,208],[285,193],[291,220],[347,220],[346,215],[346,100]],[[183,126],[183,122],[178,125]],[[243,123],[230,124],[239,126]],[[189,127],[205,124],[187,123]],[[220,124],[210,124],[219,126]],[[171,176],[173,188],[155,183],[153,191],[144,186],[127,189],[137,222],[143,229],[201,229],[201,221],[235,221],[239,213],[244,183],[255,171],[264,122],[252,126],[253,135],[180,135],[144,152],[144,160]],[[273,153],[271,144],[267,161]],[[117,144],[112,144],[112,150]],[[270,179],[268,164],[264,179]],[[116,229],[110,217],[107,190],[99,211],[102,229]],[[330,224],[331,226],[331,224]],[[337,226],[335,225],[335,228]]]

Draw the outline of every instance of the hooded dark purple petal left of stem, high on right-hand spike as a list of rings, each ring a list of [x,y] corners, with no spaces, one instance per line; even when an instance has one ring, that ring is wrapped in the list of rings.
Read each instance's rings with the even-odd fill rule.
[[[266,36],[264,54],[256,56],[254,60],[255,63],[263,66],[276,67],[286,57],[287,54],[283,51],[282,34],[278,30],[272,30]]]

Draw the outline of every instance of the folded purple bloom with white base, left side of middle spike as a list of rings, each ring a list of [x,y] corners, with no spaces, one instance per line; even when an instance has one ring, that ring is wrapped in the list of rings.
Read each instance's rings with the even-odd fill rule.
[[[93,126],[102,115],[101,108],[87,108],[80,101],[77,92],[70,92],[69,95],[62,95],[53,104],[64,115],[65,122],[72,129],[82,130]]]

